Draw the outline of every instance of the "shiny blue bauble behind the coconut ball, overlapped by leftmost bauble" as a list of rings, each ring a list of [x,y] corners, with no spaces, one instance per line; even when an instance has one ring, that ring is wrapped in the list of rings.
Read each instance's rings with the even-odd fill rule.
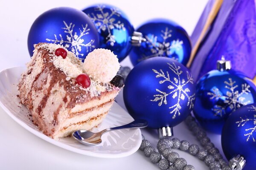
[[[115,6],[96,4],[83,10],[99,32],[100,48],[113,51],[121,62],[131,51],[134,27],[123,11]]]

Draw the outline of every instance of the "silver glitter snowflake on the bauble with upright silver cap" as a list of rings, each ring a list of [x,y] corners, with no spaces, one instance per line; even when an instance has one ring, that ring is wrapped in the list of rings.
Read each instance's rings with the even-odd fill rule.
[[[250,85],[247,85],[246,83],[242,84],[242,91],[239,92],[236,90],[238,88],[238,85],[235,85],[236,82],[232,81],[231,78],[228,79],[229,82],[224,81],[225,88],[227,88],[229,91],[227,91],[226,95],[223,95],[220,93],[218,88],[213,88],[213,93],[208,92],[207,95],[211,96],[210,99],[223,99],[225,105],[214,105],[212,108],[212,111],[215,113],[214,116],[223,116],[226,114],[226,109],[230,108],[231,112],[236,111],[236,109],[240,108],[243,105],[249,104],[251,101],[246,100],[245,97],[242,97],[243,94],[250,93]]]

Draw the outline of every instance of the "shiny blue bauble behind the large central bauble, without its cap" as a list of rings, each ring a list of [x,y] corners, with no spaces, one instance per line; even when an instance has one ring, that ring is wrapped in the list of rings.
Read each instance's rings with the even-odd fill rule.
[[[186,31],[170,20],[154,19],[137,28],[146,42],[130,53],[133,65],[151,57],[169,57],[186,65],[191,53],[191,42]]]

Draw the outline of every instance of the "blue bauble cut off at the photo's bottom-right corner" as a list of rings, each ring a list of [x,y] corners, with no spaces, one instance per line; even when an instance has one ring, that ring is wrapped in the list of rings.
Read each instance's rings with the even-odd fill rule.
[[[239,154],[246,160],[243,170],[256,170],[256,104],[230,114],[221,133],[221,145],[228,160]]]

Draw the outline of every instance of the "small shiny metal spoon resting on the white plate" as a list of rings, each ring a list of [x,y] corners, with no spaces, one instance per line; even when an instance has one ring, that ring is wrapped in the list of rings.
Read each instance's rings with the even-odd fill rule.
[[[148,126],[147,121],[138,119],[138,120],[134,120],[133,122],[127,125],[107,128],[97,133],[93,133],[88,130],[76,130],[72,133],[72,136],[73,138],[78,140],[78,142],[80,142],[81,144],[96,145],[102,142],[101,140],[102,134],[109,132],[111,130],[119,130],[119,129],[126,129],[126,128],[141,128],[141,127],[147,127],[147,126]]]

